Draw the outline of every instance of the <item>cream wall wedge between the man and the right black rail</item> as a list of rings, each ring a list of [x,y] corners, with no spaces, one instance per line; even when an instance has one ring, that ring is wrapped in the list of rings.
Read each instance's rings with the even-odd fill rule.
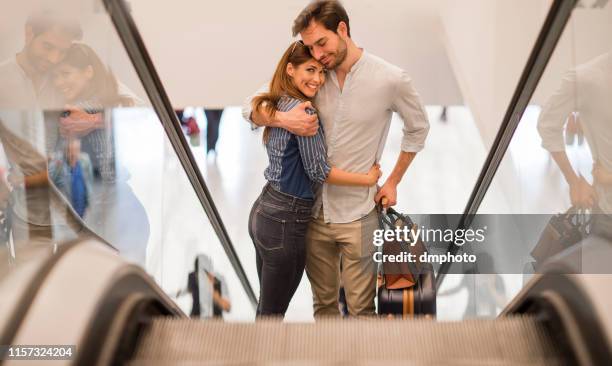
[[[542,27],[549,0],[441,0],[461,92],[490,146]]]

